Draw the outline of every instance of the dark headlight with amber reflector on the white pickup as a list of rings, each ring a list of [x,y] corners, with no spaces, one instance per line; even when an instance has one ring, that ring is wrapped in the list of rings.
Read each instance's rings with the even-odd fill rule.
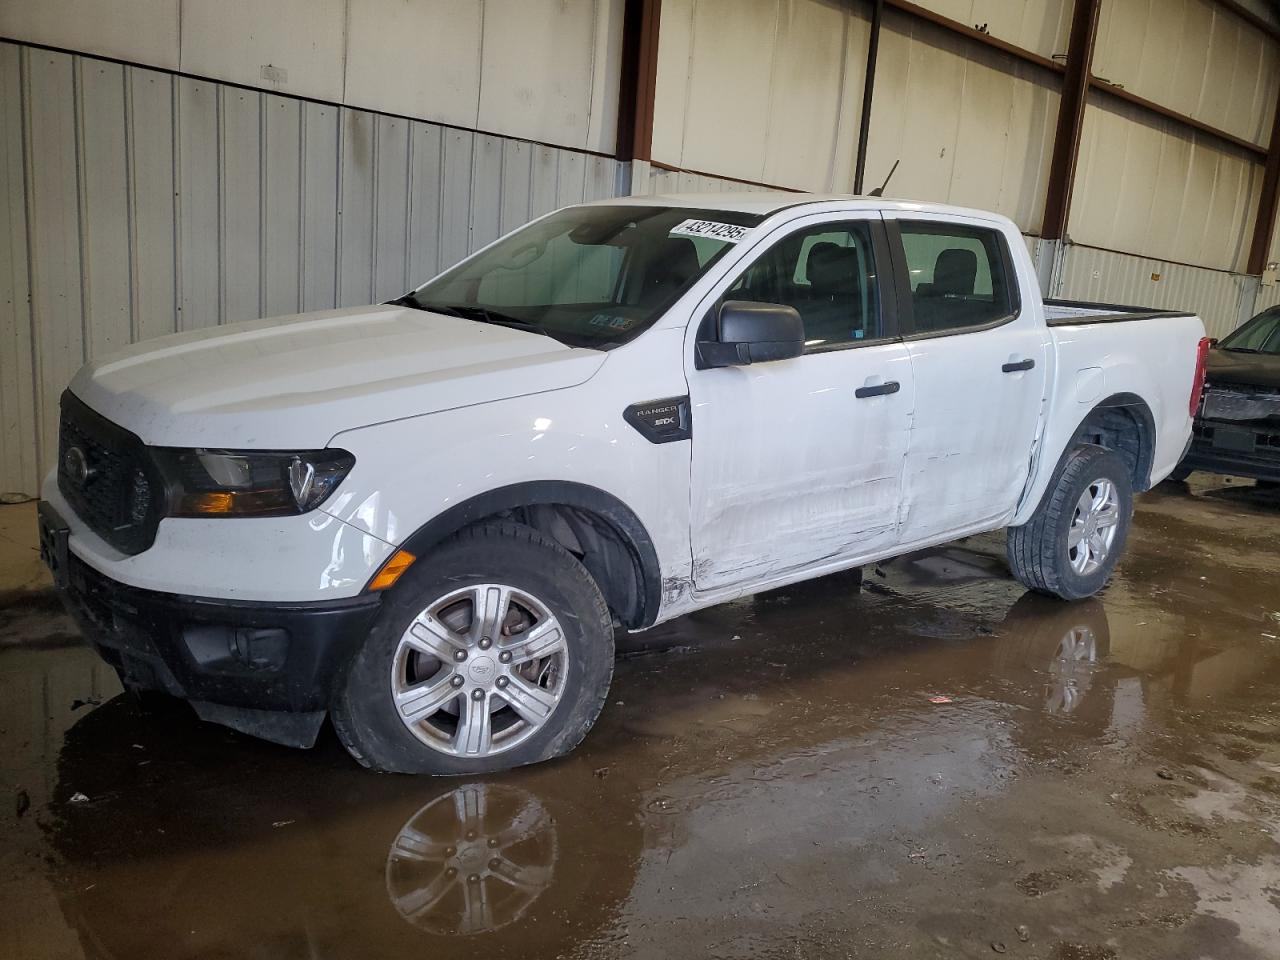
[[[347,451],[155,451],[170,517],[283,517],[315,509],[351,472]]]

